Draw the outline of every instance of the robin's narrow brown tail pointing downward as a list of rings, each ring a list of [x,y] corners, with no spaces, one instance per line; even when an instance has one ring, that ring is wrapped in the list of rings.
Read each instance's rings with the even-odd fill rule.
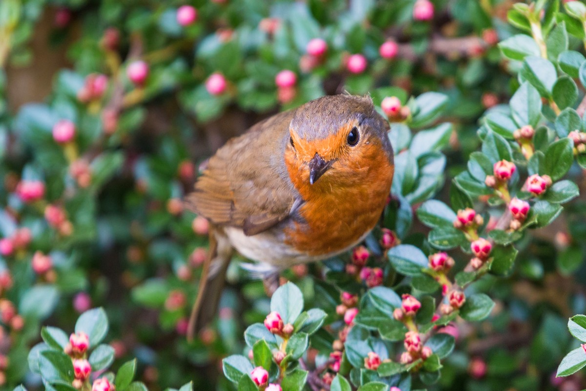
[[[228,238],[219,230],[210,227],[210,249],[203,264],[197,298],[189,317],[188,341],[192,341],[193,336],[216,315],[232,252]]]

